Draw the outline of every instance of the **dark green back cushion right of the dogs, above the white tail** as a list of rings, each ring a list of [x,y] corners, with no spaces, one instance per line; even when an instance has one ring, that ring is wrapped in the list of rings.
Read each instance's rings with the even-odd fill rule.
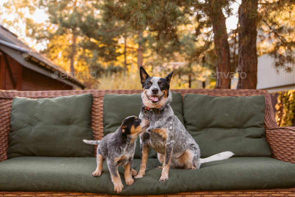
[[[265,139],[264,96],[216,97],[186,94],[186,130],[198,143],[201,158],[222,151],[236,157],[271,156]]]

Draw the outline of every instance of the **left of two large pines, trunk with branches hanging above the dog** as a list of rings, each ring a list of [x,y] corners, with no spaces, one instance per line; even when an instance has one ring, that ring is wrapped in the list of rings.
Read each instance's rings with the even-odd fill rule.
[[[142,5],[144,6],[142,6]],[[190,57],[190,61],[202,60],[212,44],[214,43],[213,52],[210,54],[215,56],[210,58],[212,64],[216,67],[217,72],[230,72],[229,47],[227,42],[227,33],[225,27],[225,17],[222,9],[230,14],[230,1],[155,1],[140,2],[129,1],[128,7],[132,13],[140,13],[140,25],[147,26],[148,31],[155,35],[157,42],[156,51],[163,53],[164,43],[170,42],[171,45],[179,45],[179,30],[177,26],[187,25],[190,23],[187,17],[194,17],[198,24],[196,28],[196,37],[200,35],[200,31],[204,28],[212,27],[213,30],[207,34],[203,41],[203,46],[195,49],[195,53]],[[200,13],[200,14],[195,14]],[[213,43],[210,36],[214,36]],[[181,35],[182,36],[182,35]],[[195,39],[196,39],[195,37]],[[208,54],[207,54],[208,55]],[[215,88],[230,88],[230,78],[217,75]]]

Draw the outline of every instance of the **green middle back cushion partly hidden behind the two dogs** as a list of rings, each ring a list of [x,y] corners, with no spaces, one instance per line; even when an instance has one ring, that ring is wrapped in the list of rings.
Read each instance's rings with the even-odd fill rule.
[[[172,93],[170,103],[174,114],[183,123],[182,96],[178,92]],[[106,94],[103,98],[103,135],[113,133],[128,116],[139,116],[142,107],[141,94]],[[139,137],[136,141],[134,158],[140,158]],[[156,151],[149,149],[148,157],[155,158]]]

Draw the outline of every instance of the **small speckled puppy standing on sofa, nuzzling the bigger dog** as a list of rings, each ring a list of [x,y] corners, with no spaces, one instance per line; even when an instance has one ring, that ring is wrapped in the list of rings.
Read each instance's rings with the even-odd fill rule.
[[[137,174],[136,170],[132,168],[136,138],[148,126],[148,120],[129,116],[122,121],[121,126],[114,133],[107,134],[101,140],[84,139],[83,142],[87,144],[98,144],[97,167],[92,175],[101,175],[103,161],[106,159],[114,190],[120,193],[124,188],[118,172],[118,165],[123,165],[126,184],[131,185],[134,182],[132,175]]]

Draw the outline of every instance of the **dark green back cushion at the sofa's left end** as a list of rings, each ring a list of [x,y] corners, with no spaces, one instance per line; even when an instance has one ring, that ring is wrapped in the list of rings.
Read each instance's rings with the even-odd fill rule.
[[[18,156],[92,157],[92,95],[12,101],[8,158]]]

